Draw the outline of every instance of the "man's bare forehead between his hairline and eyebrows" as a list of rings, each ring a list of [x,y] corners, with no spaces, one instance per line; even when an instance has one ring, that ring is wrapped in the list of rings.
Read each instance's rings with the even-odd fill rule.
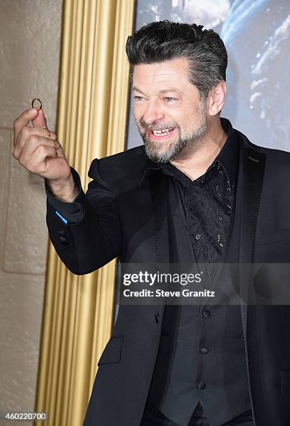
[[[173,59],[158,63],[148,63],[135,65],[133,72],[133,85],[151,86],[174,83],[181,88],[185,84],[190,84],[188,80],[188,60],[185,58]]]

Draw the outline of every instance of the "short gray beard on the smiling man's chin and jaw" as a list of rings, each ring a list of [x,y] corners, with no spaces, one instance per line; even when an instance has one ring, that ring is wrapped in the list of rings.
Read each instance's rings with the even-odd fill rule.
[[[141,120],[141,123],[144,124],[144,121],[142,122]],[[142,127],[144,128],[145,126]],[[159,148],[162,148],[163,146],[162,141],[151,141],[151,139],[148,138],[148,127],[146,126],[146,132],[142,133],[140,132],[138,126],[139,133],[144,141],[146,155],[149,157],[149,159],[151,159],[151,161],[167,163],[168,161],[172,161],[181,157],[187,157],[187,155],[192,153],[192,147],[194,145],[196,147],[199,145],[208,129],[204,105],[201,105],[201,108],[199,109],[199,127],[194,129],[191,134],[185,134],[184,136],[181,136],[180,127],[178,125],[176,125],[176,127],[178,129],[178,140],[172,142],[167,150],[159,150]]]

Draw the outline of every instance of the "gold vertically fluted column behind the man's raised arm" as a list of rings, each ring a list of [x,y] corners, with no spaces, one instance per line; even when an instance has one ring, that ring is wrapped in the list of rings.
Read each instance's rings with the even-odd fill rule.
[[[84,189],[93,158],[125,148],[125,41],[134,8],[135,0],[63,1],[56,134]],[[83,423],[97,361],[112,332],[115,265],[112,260],[75,276],[49,242],[36,397],[48,426]]]

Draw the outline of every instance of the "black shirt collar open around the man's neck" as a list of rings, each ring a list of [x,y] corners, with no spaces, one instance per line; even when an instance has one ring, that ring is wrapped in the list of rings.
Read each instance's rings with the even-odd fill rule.
[[[211,168],[213,164],[218,161],[224,167],[224,170],[226,171],[227,176],[229,178],[229,182],[231,183],[231,185],[234,185],[238,166],[239,142],[234,134],[234,129],[231,125],[231,122],[227,120],[227,118],[220,118],[220,122],[222,128],[224,129],[224,132],[227,133],[227,140],[225,141],[217,157],[215,157],[215,159],[213,160],[211,166],[209,166],[208,168]],[[173,164],[170,163],[152,161],[146,155],[145,166],[142,169],[142,175],[139,185],[142,184],[144,178],[146,177],[146,175],[148,175],[148,173],[151,173],[151,171],[153,170],[159,170],[162,168],[165,168],[166,170],[167,165],[174,167]],[[165,173],[167,173],[167,171],[165,171]]]

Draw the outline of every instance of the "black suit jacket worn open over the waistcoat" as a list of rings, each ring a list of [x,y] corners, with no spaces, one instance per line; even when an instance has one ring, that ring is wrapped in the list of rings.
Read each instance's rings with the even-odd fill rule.
[[[241,214],[240,262],[288,263],[290,154],[261,148],[234,132],[241,142],[236,205]],[[94,159],[78,223],[66,226],[47,203],[50,239],[74,274],[88,274],[117,256],[125,263],[169,262],[167,179],[159,171],[145,172],[149,164],[154,166],[143,145]],[[243,283],[249,282],[243,286],[247,298],[250,273],[243,268],[241,274]],[[266,274],[265,285],[267,280]],[[162,305],[119,307],[112,338],[98,362],[85,426],[140,424],[163,310]],[[241,315],[255,424],[289,426],[290,307],[245,304]]]

